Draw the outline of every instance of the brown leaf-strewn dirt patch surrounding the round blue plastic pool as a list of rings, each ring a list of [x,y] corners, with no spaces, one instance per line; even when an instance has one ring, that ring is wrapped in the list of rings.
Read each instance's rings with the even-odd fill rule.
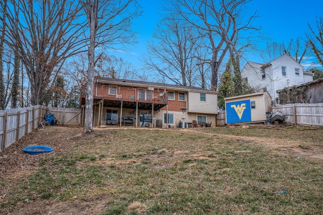
[[[28,176],[37,166],[40,158],[55,156],[57,153],[68,151],[75,144],[75,138],[82,135],[82,131],[79,128],[52,126],[29,133],[6,148],[4,152],[0,152],[0,179]],[[37,155],[23,152],[23,148],[31,145],[49,146],[53,148],[53,151]]]

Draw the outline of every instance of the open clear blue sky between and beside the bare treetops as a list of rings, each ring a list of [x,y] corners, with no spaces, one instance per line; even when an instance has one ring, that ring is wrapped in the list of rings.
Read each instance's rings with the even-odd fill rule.
[[[140,33],[138,44],[130,47],[126,52],[110,52],[110,55],[122,57],[140,70],[142,63],[139,58],[146,54],[146,41],[151,38],[155,24],[158,22],[158,8],[161,6],[161,1],[138,0],[138,3],[143,7],[143,16],[138,20],[140,23],[137,30]],[[269,33],[273,41],[277,42],[288,42],[291,38],[304,37],[304,32],[308,29],[307,23],[314,24],[316,16],[323,16],[322,0],[254,0],[248,4],[248,7],[250,15],[257,11],[260,16],[254,24],[261,25],[262,31]],[[262,63],[254,53],[250,53],[247,59]],[[313,60],[309,58],[308,61],[311,63]]]

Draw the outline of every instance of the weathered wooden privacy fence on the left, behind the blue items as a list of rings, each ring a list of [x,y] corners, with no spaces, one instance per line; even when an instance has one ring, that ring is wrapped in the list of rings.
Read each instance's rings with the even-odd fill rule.
[[[53,114],[57,125],[66,127],[80,127],[81,110],[48,108],[35,105],[29,108],[18,108],[0,111],[0,151],[38,127],[38,122],[45,114]]]

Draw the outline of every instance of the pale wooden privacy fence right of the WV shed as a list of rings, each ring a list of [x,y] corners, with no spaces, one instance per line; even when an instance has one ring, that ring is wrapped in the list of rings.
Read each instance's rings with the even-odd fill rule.
[[[282,112],[285,122],[295,125],[323,126],[323,103],[277,104],[272,112]]]

